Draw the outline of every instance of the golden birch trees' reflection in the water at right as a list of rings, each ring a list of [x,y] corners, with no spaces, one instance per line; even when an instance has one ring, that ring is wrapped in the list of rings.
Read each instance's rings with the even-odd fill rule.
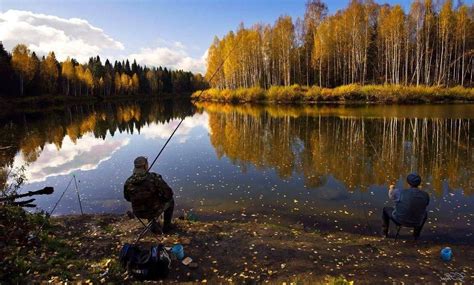
[[[425,186],[471,195],[474,185],[471,118],[406,107],[409,115],[366,108],[282,107],[199,103],[209,113],[211,143],[244,170],[273,168],[281,178],[303,174],[308,187],[333,175],[350,190],[397,181],[416,171]],[[393,107],[393,109],[399,107]],[[425,114],[426,115],[426,114]],[[460,115],[453,113],[452,115]],[[431,186],[427,184],[431,184]]]

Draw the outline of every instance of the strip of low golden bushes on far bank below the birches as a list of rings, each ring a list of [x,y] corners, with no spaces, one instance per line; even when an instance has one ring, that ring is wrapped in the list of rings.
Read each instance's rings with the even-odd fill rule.
[[[230,89],[207,89],[191,96],[196,101],[273,102],[273,103],[379,103],[416,104],[474,102],[474,89],[401,85],[344,85],[336,88],[317,86],[272,86]]]

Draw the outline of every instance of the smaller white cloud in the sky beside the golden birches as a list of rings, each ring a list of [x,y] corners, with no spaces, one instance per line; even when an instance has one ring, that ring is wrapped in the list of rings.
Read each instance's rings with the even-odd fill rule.
[[[139,64],[148,66],[164,66],[204,73],[207,51],[200,58],[194,58],[188,54],[187,48],[181,42],[169,43],[158,40],[156,47],[142,48],[138,53],[132,53],[127,58],[136,59]]]

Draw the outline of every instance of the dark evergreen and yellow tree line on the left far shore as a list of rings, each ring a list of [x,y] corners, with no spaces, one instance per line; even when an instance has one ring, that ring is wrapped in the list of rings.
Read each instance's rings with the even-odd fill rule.
[[[39,58],[19,44],[10,54],[0,42],[0,96],[117,96],[132,94],[189,93],[207,85],[201,74],[147,67],[134,60],[115,61],[99,56],[81,64],[67,58],[56,59],[54,52]]]

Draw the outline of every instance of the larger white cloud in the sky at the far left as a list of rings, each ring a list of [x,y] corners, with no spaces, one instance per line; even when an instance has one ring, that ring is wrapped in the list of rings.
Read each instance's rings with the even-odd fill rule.
[[[70,56],[80,62],[107,50],[124,49],[121,42],[86,20],[18,10],[0,13],[0,40],[10,50],[23,43],[40,55],[54,51],[59,60]]]

